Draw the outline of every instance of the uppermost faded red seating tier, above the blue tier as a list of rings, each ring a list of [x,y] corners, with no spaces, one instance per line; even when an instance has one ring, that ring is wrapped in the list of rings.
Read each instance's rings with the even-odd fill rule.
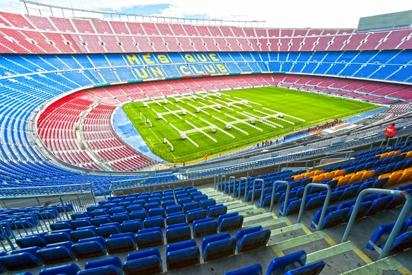
[[[25,36],[16,30],[26,30]],[[212,27],[165,23],[131,23],[0,12],[0,32],[23,47],[0,39],[1,52],[203,52],[203,51],[324,51],[412,48],[412,28],[358,33],[356,30],[288,30]],[[43,35],[42,35],[43,34]],[[63,34],[64,38],[61,35]],[[37,45],[28,47],[25,39]],[[56,47],[48,46],[47,39]],[[64,41],[71,41],[73,47]],[[82,45],[82,44],[86,45]],[[122,45],[120,46],[119,43]],[[26,47],[27,46],[27,47]],[[9,50],[10,49],[10,50]]]

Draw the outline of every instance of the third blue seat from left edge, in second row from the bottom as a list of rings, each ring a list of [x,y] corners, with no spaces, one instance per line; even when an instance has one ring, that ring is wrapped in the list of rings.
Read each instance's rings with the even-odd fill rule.
[[[80,239],[78,243],[71,245],[71,251],[77,259],[86,259],[106,255],[106,245],[102,236],[89,239]]]

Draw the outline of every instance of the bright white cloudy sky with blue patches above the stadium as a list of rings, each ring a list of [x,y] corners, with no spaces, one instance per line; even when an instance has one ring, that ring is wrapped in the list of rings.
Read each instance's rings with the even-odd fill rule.
[[[192,19],[266,21],[266,28],[356,28],[360,17],[412,10],[411,0],[32,0],[91,10]],[[33,7],[33,5],[32,5]],[[43,15],[50,15],[43,9]],[[19,0],[0,0],[0,10],[25,12]],[[31,14],[38,10],[30,9]],[[56,13],[54,16],[61,16]],[[66,14],[72,17],[72,14]],[[86,15],[82,15],[86,16]],[[93,17],[98,17],[95,14]],[[263,27],[263,25],[259,25]]]

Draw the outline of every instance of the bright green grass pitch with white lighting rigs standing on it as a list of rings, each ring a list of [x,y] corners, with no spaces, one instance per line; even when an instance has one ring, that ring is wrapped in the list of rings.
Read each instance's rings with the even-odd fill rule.
[[[205,153],[211,156],[231,151],[249,144],[262,142],[262,140],[283,136],[298,128],[302,129],[309,125],[321,124],[331,118],[345,118],[376,108],[375,105],[365,102],[347,101],[341,98],[332,98],[279,87],[226,91],[222,93],[220,98],[218,96],[211,96],[212,94],[216,93],[207,94],[205,99],[198,94],[196,95],[196,100],[185,96],[167,98],[168,104],[164,104],[163,99],[156,100],[156,102],[155,100],[148,100],[146,101],[150,102],[148,107],[144,107],[143,102],[133,102],[125,104],[123,109],[150,150],[159,157],[173,163],[203,158]],[[179,102],[176,102],[176,99],[179,99]],[[236,107],[232,106],[231,109],[227,109],[225,107],[226,103],[233,100],[248,100],[249,106],[237,103],[233,104]],[[196,107],[214,104],[222,104],[221,109],[205,108],[203,111],[207,113],[202,111],[196,112]],[[157,119],[157,113],[177,111],[182,108],[187,110],[186,115],[182,113],[177,113],[179,117],[173,113],[163,115],[163,118],[168,122],[163,119]],[[271,110],[284,113],[283,120],[272,117],[267,118],[268,114],[275,114]],[[247,114],[244,112],[247,112]],[[141,120],[140,113],[152,122],[152,128],[148,127],[144,120]],[[257,128],[253,127],[251,122],[244,122],[233,124],[238,129],[235,129],[233,126],[229,130],[226,129],[225,122],[233,123],[236,119],[244,120],[251,118],[253,115],[256,118],[254,126]],[[291,115],[295,118],[290,118],[286,115]],[[213,118],[213,116],[217,119]],[[267,118],[264,120],[264,123],[258,121],[258,117],[263,116]],[[305,121],[298,120],[297,118]],[[287,120],[287,122],[284,120]],[[181,140],[180,133],[170,126],[170,124],[173,124],[181,131],[188,131],[194,129],[193,126],[198,128],[209,126],[207,122],[219,128],[216,133],[212,133],[211,129],[204,130],[216,142],[201,132],[188,133],[187,137],[198,144],[198,147],[190,140]],[[225,131],[225,133],[220,131],[220,129]],[[170,152],[170,145],[163,144],[163,137],[166,137],[174,146],[173,152]]]

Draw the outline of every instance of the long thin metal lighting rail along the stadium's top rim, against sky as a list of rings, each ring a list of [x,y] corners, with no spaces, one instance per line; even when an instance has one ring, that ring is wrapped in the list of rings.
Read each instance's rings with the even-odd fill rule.
[[[148,19],[151,23],[183,23],[183,24],[191,24],[191,25],[210,25],[210,26],[233,26],[233,27],[246,27],[246,28],[264,28],[264,23],[266,21],[244,21],[244,20],[223,20],[223,19],[196,19],[196,18],[189,18],[189,17],[159,17],[154,15],[144,15],[144,14],[129,14],[124,12],[112,12],[108,10],[88,10],[88,9],[80,9],[80,8],[71,8],[65,7],[61,5],[49,5],[46,3],[40,3],[37,1],[30,1],[30,0],[19,0],[20,2],[24,3],[25,9],[27,14],[29,14],[29,10],[38,10],[41,14],[40,7],[49,8],[52,17],[54,17],[53,9],[62,10],[63,17],[65,17],[64,10],[69,10],[73,14],[73,18],[76,18],[74,12],[89,12],[93,14],[110,14],[111,20],[113,21],[113,15],[118,16],[119,20],[122,17],[126,17],[128,22],[133,22],[129,20],[129,17],[135,17],[135,22],[137,18],[141,19],[142,22],[146,22],[144,19]],[[37,8],[33,8],[32,6],[36,6]],[[81,18],[81,17],[78,17]]]

